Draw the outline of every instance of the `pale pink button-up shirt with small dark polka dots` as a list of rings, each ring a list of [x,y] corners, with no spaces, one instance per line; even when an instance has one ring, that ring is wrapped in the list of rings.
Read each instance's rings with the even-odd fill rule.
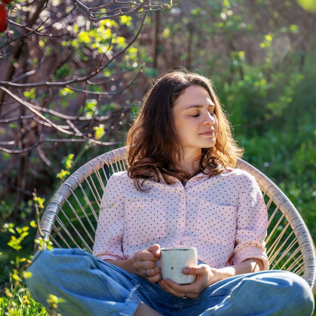
[[[127,172],[114,173],[100,206],[93,254],[103,260],[131,258],[158,243],[197,248],[198,259],[214,268],[259,258],[269,268],[264,238],[267,211],[260,188],[246,171],[203,173],[185,186],[146,181],[137,191]]]

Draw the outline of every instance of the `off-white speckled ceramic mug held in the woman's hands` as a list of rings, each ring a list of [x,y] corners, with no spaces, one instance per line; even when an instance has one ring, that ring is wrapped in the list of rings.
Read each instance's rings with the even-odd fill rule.
[[[161,248],[160,268],[162,279],[170,279],[178,284],[195,281],[195,275],[185,275],[182,270],[190,265],[197,265],[197,249]]]

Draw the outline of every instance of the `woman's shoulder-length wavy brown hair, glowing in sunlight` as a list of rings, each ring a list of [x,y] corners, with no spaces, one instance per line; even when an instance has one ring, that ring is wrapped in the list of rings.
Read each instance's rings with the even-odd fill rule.
[[[202,157],[195,174],[219,174],[225,167],[234,167],[237,158],[242,156],[243,149],[238,148],[232,136],[230,124],[212,82],[199,74],[168,71],[155,80],[145,94],[143,106],[127,134],[127,172],[134,179],[137,190],[148,190],[144,187],[146,179],[160,182],[162,176],[170,184],[173,182],[171,177],[183,183],[192,177],[192,174],[177,168],[183,148],[175,132],[172,115],[174,101],[190,86],[201,86],[209,92],[218,120],[215,146],[202,148]]]

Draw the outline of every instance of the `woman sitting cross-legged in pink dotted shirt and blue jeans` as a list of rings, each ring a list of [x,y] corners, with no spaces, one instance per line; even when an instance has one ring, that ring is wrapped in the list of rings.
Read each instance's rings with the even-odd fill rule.
[[[254,178],[233,169],[242,150],[208,79],[162,75],[127,145],[128,171],[113,174],[102,197],[94,256],[42,252],[29,268],[33,297],[63,297],[63,315],[312,313],[304,279],[264,271],[264,200]],[[197,247],[199,264],[183,270],[195,282],[161,280],[162,246]]]

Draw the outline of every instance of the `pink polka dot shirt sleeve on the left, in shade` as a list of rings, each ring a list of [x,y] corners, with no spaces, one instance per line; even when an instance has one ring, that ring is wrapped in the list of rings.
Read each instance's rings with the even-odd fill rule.
[[[93,255],[102,260],[126,259],[123,253],[124,199],[119,177],[108,180],[100,204]]]

